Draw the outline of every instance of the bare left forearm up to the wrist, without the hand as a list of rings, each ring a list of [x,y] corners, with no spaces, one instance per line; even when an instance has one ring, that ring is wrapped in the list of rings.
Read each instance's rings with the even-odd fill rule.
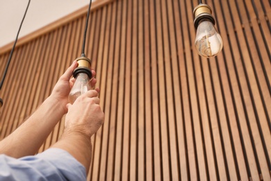
[[[0,142],[0,153],[15,158],[34,155],[64,113],[60,102],[48,97],[22,125]]]

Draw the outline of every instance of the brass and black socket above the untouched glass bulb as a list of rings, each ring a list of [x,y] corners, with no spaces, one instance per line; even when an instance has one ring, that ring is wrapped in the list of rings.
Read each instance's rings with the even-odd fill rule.
[[[209,20],[215,25],[215,19],[212,16],[212,10],[211,7],[208,6],[207,4],[200,3],[198,6],[196,6],[193,10],[194,14],[194,26],[195,29],[197,29],[197,26],[199,26],[199,22],[202,19]]]

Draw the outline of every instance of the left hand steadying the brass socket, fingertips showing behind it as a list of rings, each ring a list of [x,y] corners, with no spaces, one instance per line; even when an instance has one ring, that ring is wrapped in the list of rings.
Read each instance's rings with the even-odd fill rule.
[[[77,67],[77,62],[74,61],[72,65],[67,68],[66,72],[58,79],[56,86],[50,95],[53,99],[60,103],[60,107],[63,108],[64,112],[67,113],[67,103],[68,103],[68,96],[71,88],[74,84],[74,77],[72,77],[72,72]],[[96,72],[92,70],[92,79],[90,81],[90,86],[94,87],[97,80],[94,78]]]

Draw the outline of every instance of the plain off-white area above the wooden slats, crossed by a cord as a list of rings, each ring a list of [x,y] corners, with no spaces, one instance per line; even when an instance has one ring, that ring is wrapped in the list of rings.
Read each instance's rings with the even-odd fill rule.
[[[28,0],[0,0],[0,47],[15,40],[27,3]],[[88,3],[90,0],[32,0],[19,38],[87,6]]]

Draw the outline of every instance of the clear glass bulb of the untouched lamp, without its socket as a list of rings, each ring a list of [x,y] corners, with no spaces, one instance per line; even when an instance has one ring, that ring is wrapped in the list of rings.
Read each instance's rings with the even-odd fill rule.
[[[222,50],[222,38],[208,19],[202,19],[197,26],[195,46],[198,54],[207,58],[216,56]]]

